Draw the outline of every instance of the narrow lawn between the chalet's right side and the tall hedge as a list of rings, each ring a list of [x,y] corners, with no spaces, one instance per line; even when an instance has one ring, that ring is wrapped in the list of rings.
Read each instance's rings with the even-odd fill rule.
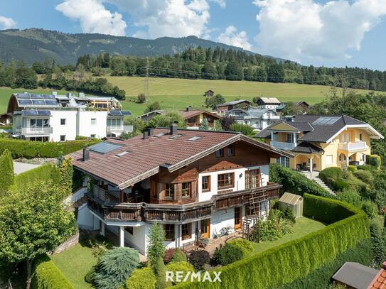
[[[253,253],[259,253],[271,249],[274,246],[282,245],[288,241],[299,239],[302,236],[306,236],[306,234],[312,233],[313,231],[318,231],[323,227],[326,227],[326,225],[321,222],[306,217],[299,217],[296,219],[296,223],[294,224],[294,233],[285,234],[282,238],[275,241],[252,243],[254,249]]]

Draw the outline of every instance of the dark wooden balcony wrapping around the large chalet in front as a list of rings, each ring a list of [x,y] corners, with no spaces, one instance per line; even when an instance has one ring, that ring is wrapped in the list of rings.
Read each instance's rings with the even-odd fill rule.
[[[264,187],[227,192],[214,195],[211,200],[205,202],[194,202],[186,205],[147,204],[145,202],[114,205],[104,203],[100,197],[88,193],[87,204],[93,212],[106,221],[184,224],[208,219],[215,210],[247,205],[251,202],[252,194],[254,194],[254,200],[261,202],[279,197],[280,187],[282,185],[269,182]]]

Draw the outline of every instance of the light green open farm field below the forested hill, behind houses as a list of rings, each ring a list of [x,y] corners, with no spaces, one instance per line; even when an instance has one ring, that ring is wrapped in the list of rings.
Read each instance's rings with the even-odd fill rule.
[[[126,100],[122,102],[124,109],[132,111],[134,116],[144,113],[146,104],[136,103],[136,96],[144,92],[144,77],[106,77],[109,82],[126,91]],[[149,79],[151,102],[159,102],[161,109],[185,109],[191,105],[205,108],[203,93],[212,89],[215,94],[222,94],[226,101],[236,98],[251,100],[253,97],[277,97],[282,102],[299,102],[309,104],[321,102],[328,94],[330,87],[322,85],[247,82],[228,80],[186,80],[177,78]],[[50,89],[11,89],[0,87],[0,114],[6,111],[9,97],[14,92],[50,93]],[[360,91],[360,90],[358,90]],[[362,92],[368,92],[362,90]],[[65,91],[58,92],[65,94]],[[380,92],[382,93],[382,92]]]

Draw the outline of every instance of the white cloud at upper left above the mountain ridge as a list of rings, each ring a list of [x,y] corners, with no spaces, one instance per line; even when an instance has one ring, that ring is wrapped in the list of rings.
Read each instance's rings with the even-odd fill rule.
[[[122,20],[122,14],[108,11],[102,2],[102,0],[65,0],[56,6],[56,10],[79,21],[85,33],[124,36],[127,24]]]

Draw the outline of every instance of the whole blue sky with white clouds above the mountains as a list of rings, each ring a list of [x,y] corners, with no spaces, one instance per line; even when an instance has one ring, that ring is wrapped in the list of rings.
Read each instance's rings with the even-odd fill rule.
[[[198,36],[300,62],[386,70],[386,0],[0,0],[0,29]]]

